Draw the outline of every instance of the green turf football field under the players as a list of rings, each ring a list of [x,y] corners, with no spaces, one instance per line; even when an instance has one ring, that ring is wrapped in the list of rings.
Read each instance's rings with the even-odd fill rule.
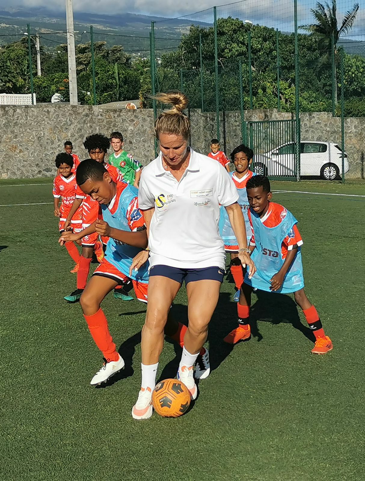
[[[225,344],[236,324],[234,286],[225,280],[207,342],[213,372],[195,405],[181,418],[155,413],[136,422],[145,306],[105,299],[126,369],[91,388],[101,354],[79,304],[63,301],[76,276],[42,182],[50,179],[0,182],[1,480],[364,479],[365,186],[272,186],[310,192],[274,200],[299,219],[306,292],[333,351],[310,354],[305,319],[280,294],[254,296],[252,339]],[[173,310],[186,319],[185,288]],[[158,377],[174,377],[179,358],[180,348],[165,342]]]

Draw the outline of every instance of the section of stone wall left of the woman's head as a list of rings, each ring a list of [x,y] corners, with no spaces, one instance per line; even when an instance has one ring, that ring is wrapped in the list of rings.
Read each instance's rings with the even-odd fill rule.
[[[0,106],[0,178],[51,177],[54,159],[71,140],[81,160],[88,157],[85,137],[120,130],[125,148],[143,164],[154,158],[152,110],[102,109],[99,106],[38,104]],[[112,152],[112,151],[111,151]]]

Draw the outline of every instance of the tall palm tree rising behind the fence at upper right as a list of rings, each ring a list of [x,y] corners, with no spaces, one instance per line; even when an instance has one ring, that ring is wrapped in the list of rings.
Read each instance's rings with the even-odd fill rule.
[[[326,6],[326,8],[325,8]],[[335,55],[337,54],[337,43],[339,38],[347,34],[353,25],[356,18],[356,13],[359,10],[359,4],[354,3],[352,9],[345,13],[342,19],[340,28],[337,24],[337,5],[336,0],[332,0],[332,5],[327,2],[323,5],[320,2],[315,4],[315,8],[311,9],[311,12],[317,23],[301,25],[299,28],[305,30],[313,35],[319,37],[318,47],[323,52],[321,57],[321,63],[330,63],[332,54],[332,38],[333,48]],[[336,81],[336,63],[335,63],[335,85]],[[335,103],[337,103],[337,89],[335,89]]]

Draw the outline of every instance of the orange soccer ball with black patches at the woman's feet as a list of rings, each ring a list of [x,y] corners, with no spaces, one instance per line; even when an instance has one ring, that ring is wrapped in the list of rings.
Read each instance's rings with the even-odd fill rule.
[[[164,418],[178,418],[190,405],[189,389],[178,379],[165,379],[152,392],[154,410]]]

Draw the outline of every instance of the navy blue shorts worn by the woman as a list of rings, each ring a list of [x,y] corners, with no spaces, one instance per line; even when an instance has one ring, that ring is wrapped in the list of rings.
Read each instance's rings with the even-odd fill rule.
[[[194,280],[217,280],[223,282],[225,270],[221,267],[202,267],[200,269],[180,269],[180,267],[164,266],[157,264],[150,269],[150,277],[163,276],[172,280],[176,280],[182,284],[185,280],[185,285]]]

